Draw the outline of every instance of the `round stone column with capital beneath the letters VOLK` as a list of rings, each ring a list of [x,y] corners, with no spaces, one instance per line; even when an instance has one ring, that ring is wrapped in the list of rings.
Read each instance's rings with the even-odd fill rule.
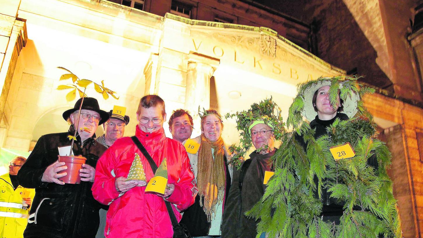
[[[187,86],[185,91],[185,109],[195,123],[200,122],[198,106],[200,110],[210,108],[210,78],[219,66],[220,60],[207,55],[191,52],[187,67]],[[201,134],[200,125],[195,125],[192,137]]]

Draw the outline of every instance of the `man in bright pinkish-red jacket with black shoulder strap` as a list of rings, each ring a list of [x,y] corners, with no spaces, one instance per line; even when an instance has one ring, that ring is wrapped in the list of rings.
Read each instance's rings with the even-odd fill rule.
[[[139,182],[125,181],[135,153],[140,157],[148,182],[154,174],[146,157],[130,137],[124,137],[102,155],[96,166],[93,196],[102,204],[110,204],[104,235],[107,238],[171,238],[173,228],[165,201],[173,204],[177,220],[180,211],[194,203],[197,189],[185,148],[167,138],[165,102],[157,95],[141,98],[137,110],[135,136],[146,148],[157,166],[167,160],[168,185],[164,195],[146,192]],[[145,185],[145,184],[140,184]]]

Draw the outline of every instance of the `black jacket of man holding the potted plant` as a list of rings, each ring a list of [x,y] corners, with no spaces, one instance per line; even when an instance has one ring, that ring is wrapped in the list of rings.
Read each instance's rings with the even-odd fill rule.
[[[94,238],[99,227],[99,209],[102,206],[92,195],[91,182],[58,185],[41,182],[47,166],[58,159],[58,147],[69,146],[69,136],[73,132],[55,133],[41,136],[18,173],[19,184],[25,188],[35,188],[36,194],[30,214],[35,221],[28,223],[24,237],[54,238]],[[86,163],[95,167],[99,157],[106,150],[102,144],[88,138],[81,144],[77,136],[74,143],[75,155],[83,155]]]

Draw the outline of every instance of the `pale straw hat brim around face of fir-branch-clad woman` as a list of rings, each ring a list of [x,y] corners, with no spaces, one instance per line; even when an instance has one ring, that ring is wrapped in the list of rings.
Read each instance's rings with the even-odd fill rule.
[[[324,77],[323,79],[327,80],[316,80],[316,83],[312,83],[307,89],[304,91],[304,108],[301,111],[301,115],[304,116],[309,122],[313,121],[316,116],[317,112],[314,111],[313,107],[313,95],[314,93],[324,86],[331,85],[331,78]],[[308,82],[310,83],[310,82]],[[342,89],[343,83],[339,82],[339,89]],[[357,102],[360,100],[360,97],[353,92],[347,96],[346,100],[343,100],[343,111],[349,118],[352,118],[358,111]]]

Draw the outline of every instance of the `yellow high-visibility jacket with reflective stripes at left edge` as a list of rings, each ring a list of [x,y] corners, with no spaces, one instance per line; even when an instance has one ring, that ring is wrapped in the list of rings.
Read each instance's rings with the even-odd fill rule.
[[[9,174],[0,176],[0,238],[23,237],[29,209],[22,208],[22,193],[34,199],[35,189],[19,185],[14,190]]]

